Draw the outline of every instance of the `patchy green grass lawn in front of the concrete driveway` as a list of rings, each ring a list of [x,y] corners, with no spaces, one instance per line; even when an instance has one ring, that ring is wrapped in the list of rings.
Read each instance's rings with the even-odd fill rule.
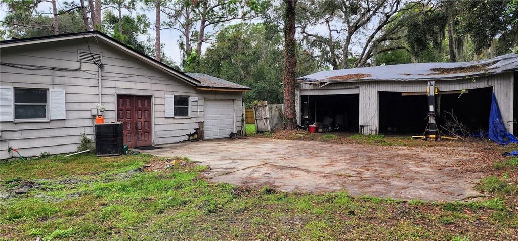
[[[487,198],[428,203],[213,184],[200,175],[205,167],[176,159],[168,169],[149,172],[149,164],[164,158],[85,154],[0,162],[0,240],[516,240],[518,235],[516,188],[500,174],[481,182]],[[492,168],[509,174],[517,165],[509,159]]]

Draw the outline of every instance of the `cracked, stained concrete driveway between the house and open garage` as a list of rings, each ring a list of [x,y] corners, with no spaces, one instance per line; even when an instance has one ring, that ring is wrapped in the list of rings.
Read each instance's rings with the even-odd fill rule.
[[[394,199],[460,200],[478,195],[481,173],[459,161],[477,158],[468,147],[333,145],[264,138],[162,145],[143,150],[187,156],[208,165],[212,182],[268,186],[287,192],[331,192]],[[457,165],[455,165],[457,164]]]

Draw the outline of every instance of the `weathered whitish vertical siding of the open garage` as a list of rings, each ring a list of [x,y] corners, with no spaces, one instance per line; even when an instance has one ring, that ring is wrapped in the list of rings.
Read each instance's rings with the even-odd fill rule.
[[[498,101],[502,119],[506,128],[513,133],[513,73],[500,73],[492,76],[469,78],[452,81],[436,81],[439,91],[461,91],[493,87]],[[379,97],[378,92],[426,92],[428,81],[376,81],[358,83],[329,84],[319,88],[317,84],[303,83],[299,85],[300,93],[318,95],[325,92],[333,94],[350,94],[351,88],[359,90],[359,130],[363,134],[379,132]],[[300,108],[297,108],[300,112]]]

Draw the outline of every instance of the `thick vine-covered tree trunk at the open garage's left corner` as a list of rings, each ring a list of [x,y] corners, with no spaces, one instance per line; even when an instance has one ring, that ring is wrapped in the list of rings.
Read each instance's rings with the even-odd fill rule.
[[[295,111],[295,70],[297,66],[295,42],[295,4],[297,0],[284,0],[284,129],[297,129]]]

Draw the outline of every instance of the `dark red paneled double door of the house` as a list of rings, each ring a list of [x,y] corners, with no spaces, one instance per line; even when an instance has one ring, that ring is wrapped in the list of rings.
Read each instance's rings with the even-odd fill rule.
[[[151,145],[151,96],[117,96],[117,120],[123,123],[124,145]]]

